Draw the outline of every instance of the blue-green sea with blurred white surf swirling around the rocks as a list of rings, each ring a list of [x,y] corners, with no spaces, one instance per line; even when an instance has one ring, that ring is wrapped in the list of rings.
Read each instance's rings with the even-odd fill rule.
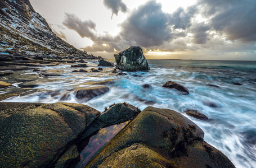
[[[114,62],[114,60],[110,60]],[[119,102],[127,102],[141,110],[147,106],[178,111],[204,130],[204,140],[223,152],[236,167],[256,167],[256,62],[216,60],[148,60],[150,71],[124,72],[118,76],[113,67],[103,72],[71,73],[70,65],[43,67],[61,71],[62,76],[48,77],[38,92],[4,101],[17,102],[73,102],[73,88],[91,87],[91,81],[113,79],[107,84],[110,91],[83,102],[99,111]],[[97,68],[97,61],[88,60],[89,68]],[[80,68],[77,68],[80,69]],[[86,68],[84,68],[86,69]],[[24,71],[24,74],[38,72]],[[189,95],[163,88],[167,81],[187,87]],[[233,85],[241,83],[242,85]],[[18,84],[18,83],[16,83]],[[145,89],[142,85],[152,87]],[[219,87],[208,86],[216,85]],[[17,86],[17,85],[16,85]],[[57,94],[56,94],[57,93]],[[61,99],[64,95],[66,99]],[[217,107],[210,107],[215,104]],[[209,120],[198,120],[183,111],[198,110]]]

